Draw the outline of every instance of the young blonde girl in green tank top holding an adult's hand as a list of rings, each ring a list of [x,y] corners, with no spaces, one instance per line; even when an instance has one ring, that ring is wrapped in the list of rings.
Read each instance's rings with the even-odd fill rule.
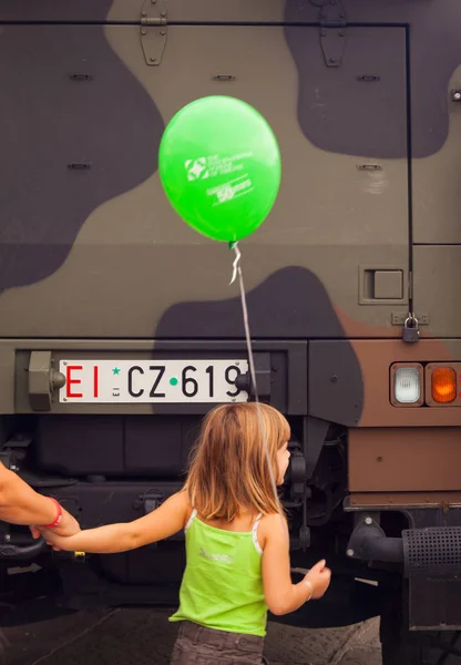
[[[267,608],[287,614],[319,598],[330,583],[325,561],[291,583],[285,518],[272,478],[281,484],[289,460],[289,426],[260,405],[273,477],[255,403],[227,405],[205,418],[184,489],[154,512],[60,538],[55,549],[126,552],[185,529],[187,564],[172,665],[264,663]]]

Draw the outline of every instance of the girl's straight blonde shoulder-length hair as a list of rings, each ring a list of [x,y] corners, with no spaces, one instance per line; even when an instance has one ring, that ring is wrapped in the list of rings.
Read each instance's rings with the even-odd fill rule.
[[[277,451],[289,440],[290,428],[273,407],[260,405],[260,410],[277,482]],[[185,490],[205,520],[232,522],[244,507],[263,514],[278,512],[256,403],[225,405],[208,412]]]

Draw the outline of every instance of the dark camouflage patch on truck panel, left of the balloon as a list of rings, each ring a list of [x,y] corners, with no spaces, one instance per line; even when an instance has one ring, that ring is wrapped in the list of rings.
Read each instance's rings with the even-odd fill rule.
[[[0,55],[1,291],[54,273],[89,215],[156,171],[164,125],[102,25],[4,25]]]

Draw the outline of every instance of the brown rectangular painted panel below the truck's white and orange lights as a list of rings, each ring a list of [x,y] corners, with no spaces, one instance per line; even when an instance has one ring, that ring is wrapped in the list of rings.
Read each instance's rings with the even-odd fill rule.
[[[461,490],[461,428],[349,431],[349,490]]]

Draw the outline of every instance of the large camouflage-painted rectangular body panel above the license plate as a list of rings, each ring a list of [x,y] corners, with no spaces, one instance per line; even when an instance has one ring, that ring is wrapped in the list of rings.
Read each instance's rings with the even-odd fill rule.
[[[408,308],[403,29],[349,28],[342,66],[327,71],[318,29],[310,27],[168,25],[155,68],[145,62],[140,25],[4,25],[2,44],[4,62],[16,62],[14,75],[9,64],[2,73],[12,91],[11,124],[30,130],[30,137],[11,143],[13,196],[1,213],[3,337],[197,337],[203,332],[193,319],[181,329],[166,326],[168,309],[235,299],[226,246],[197,236],[175,215],[156,168],[166,123],[207,94],[249,102],[280,143],[280,194],[267,222],[242,244],[244,270],[252,291],[286,268],[301,268],[305,277],[291,289],[305,325],[293,311],[277,330],[254,321],[255,334],[344,337],[340,326],[322,321],[322,309],[332,306],[376,326],[377,336],[400,334],[391,314]],[[309,71],[296,66],[300,49]],[[45,53],[52,54],[51,66]],[[378,85],[358,80],[370,71],[381,72]],[[70,79],[82,72],[92,79]],[[219,74],[235,80],[216,81]],[[320,147],[298,122],[305,78],[313,113],[307,122]],[[45,82],[47,100],[37,83],[24,104],[18,86],[29,90],[32,80]],[[346,144],[338,145],[344,154],[321,149],[329,135],[348,139],[360,126],[378,153],[383,129],[372,115],[383,103],[385,143],[403,158],[346,154]],[[47,116],[50,106],[54,115]],[[25,183],[18,185],[16,177],[21,163],[31,183],[27,195]],[[75,164],[88,168],[72,168]],[[397,275],[397,291],[385,288],[376,297],[375,273],[386,279],[388,270]],[[208,336],[242,335],[235,321],[223,328],[213,308],[207,319]]]

